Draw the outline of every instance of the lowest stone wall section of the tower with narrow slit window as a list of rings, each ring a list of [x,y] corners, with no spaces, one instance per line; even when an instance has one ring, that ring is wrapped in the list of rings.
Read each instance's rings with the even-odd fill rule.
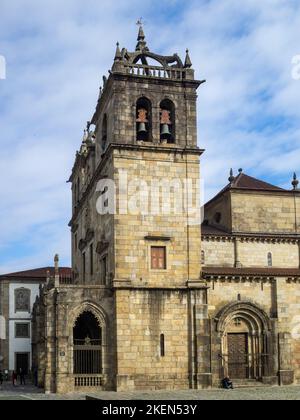
[[[119,391],[189,387],[186,292],[118,290],[116,319]]]

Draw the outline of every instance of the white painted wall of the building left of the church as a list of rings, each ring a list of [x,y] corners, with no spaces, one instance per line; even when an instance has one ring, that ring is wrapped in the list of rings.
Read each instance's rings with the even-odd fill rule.
[[[29,312],[15,312],[15,290],[29,289],[30,294],[30,313]],[[16,322],[30,322],[31,312],[36,297],[39,295],[39,285],[37,283],[11,283],[9,285],[9,369],[15,370],[15,353],[30,353],[31,364],[31,325],[30,338],[15,338],[15,323]]]

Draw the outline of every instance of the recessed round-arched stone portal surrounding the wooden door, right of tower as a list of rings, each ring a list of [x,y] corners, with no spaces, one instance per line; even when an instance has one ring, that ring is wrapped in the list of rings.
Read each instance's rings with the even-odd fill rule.
[[[260,380],[270,375],[271,326],[264,311],[247,302],[229,305],[221,313],[218,330],[225,376]]]

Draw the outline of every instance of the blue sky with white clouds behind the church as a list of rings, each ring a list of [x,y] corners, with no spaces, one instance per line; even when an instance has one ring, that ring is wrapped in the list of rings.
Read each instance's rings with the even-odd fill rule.
[[[70,186],[115,43],[189,47],[199,90],[205,198],[231,167],[290,188],[300,176],[298,0],[0,0],[0,273],[70,263]]]

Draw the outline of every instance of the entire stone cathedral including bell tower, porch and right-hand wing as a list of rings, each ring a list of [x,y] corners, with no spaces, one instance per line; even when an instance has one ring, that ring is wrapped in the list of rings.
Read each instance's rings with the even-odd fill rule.
[[[201,226],[203,82],[142,27],[117,45],[70,177],[73,278],[57,257],[34,306],[46,392],[300,382],[298,181],[231,172]]]

